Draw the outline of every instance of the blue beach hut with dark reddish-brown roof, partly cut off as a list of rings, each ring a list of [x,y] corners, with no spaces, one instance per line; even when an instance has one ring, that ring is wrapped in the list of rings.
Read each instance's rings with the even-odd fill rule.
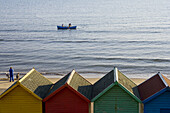
[[[157,73],[134,87],[134,93],[144,104],[144,113],[170,113],[170,80]]]

